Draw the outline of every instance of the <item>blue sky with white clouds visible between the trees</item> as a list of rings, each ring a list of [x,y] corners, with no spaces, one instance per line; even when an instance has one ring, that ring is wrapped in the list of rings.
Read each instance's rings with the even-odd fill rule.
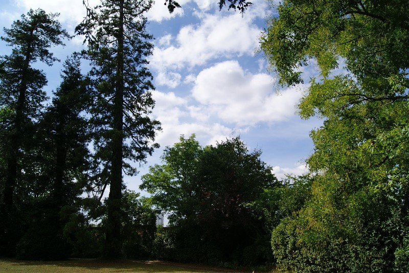
[[[93,6],[98,0],[88,0]],[[60,13],[58,20],[74,35],[75,26],[85,15],[82,0],[0,0],[0,35],[3,28],[30,9]],[[146,14],[148,33],[154,36],[149,70],[154,77],[152,118],[162,123],[156,142],[161,145],[139,175],[124,177],[128,189],[140,192],[141,175],[148,166],[161,164],[163,148],[178,142],[179,136],[196,134],[201,146],[215,145],[231,135],[240,135],[249,151],[260,149],[261,159],[274,167],[278,178],[301,175],[305,160],[313,152],[309,137],[320,127],[317,118],[302,120],[297,104],[307,85],[281,87],[267,62],[258,53],[259,37],[266,18],[274,15],[264,0],[252,0],[244,16],[218,9],[218,0],[180,0],[181,9],[169,14],[164,0],[157,0]],[[51,51],[62,61],[84,48],[81,37],[65,41],[65,47]],[[0,41],[0,55],[11,48]],[[47,73],[44,88],[51,96],[60,83],[62,62],[52,67],[38,64]],[[304,71],[316,74],[313,66]],[[144,194],[144,193],[142,193]]]

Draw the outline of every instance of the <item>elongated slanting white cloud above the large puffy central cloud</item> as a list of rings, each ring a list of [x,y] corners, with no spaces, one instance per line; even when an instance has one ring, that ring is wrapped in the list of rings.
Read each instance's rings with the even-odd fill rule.
[[[251,16],[202,14],[199,25],[181,28],[172,39],[167,35],[164,39],[170,45],[164,46],[161,42],[157,45],[150,66],[159,72],[186,70],[217,57],[253,55],[260,31]]]

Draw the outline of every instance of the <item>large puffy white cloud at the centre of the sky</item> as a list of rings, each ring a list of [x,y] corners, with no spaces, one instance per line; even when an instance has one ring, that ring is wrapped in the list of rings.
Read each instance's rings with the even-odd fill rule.
[[[251,126],[294,116],[301,93],[290,88],[277,95],[269,75],[251,74],[237,61],[225,61],[199,73],[192,96],[202,104],[201,111],[238,126]]]

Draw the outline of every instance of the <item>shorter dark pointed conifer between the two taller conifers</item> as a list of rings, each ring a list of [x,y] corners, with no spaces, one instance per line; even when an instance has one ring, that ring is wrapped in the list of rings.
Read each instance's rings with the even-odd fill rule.
[[[32,183],[39,190],[28,230],[17,245],[19,259],[65,259],[71,254],[63,230],[78,209],[89,168],[88,125],[81,116],[87,106],[86,80],[77,54],[65,61],[61,77],[38,125],[39,171]]]

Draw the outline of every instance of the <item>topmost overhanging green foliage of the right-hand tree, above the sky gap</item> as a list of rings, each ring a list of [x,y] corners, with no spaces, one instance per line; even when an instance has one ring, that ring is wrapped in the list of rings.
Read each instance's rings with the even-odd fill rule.
[[[316,60],[324,77],[344,61],[358,81],[403,83],[408,59],[405,4],[400,0],[284,1],[277,7],[279,17],[268,21],[261,49],[286,84],[302,82],[299,67],[309,58]]]

